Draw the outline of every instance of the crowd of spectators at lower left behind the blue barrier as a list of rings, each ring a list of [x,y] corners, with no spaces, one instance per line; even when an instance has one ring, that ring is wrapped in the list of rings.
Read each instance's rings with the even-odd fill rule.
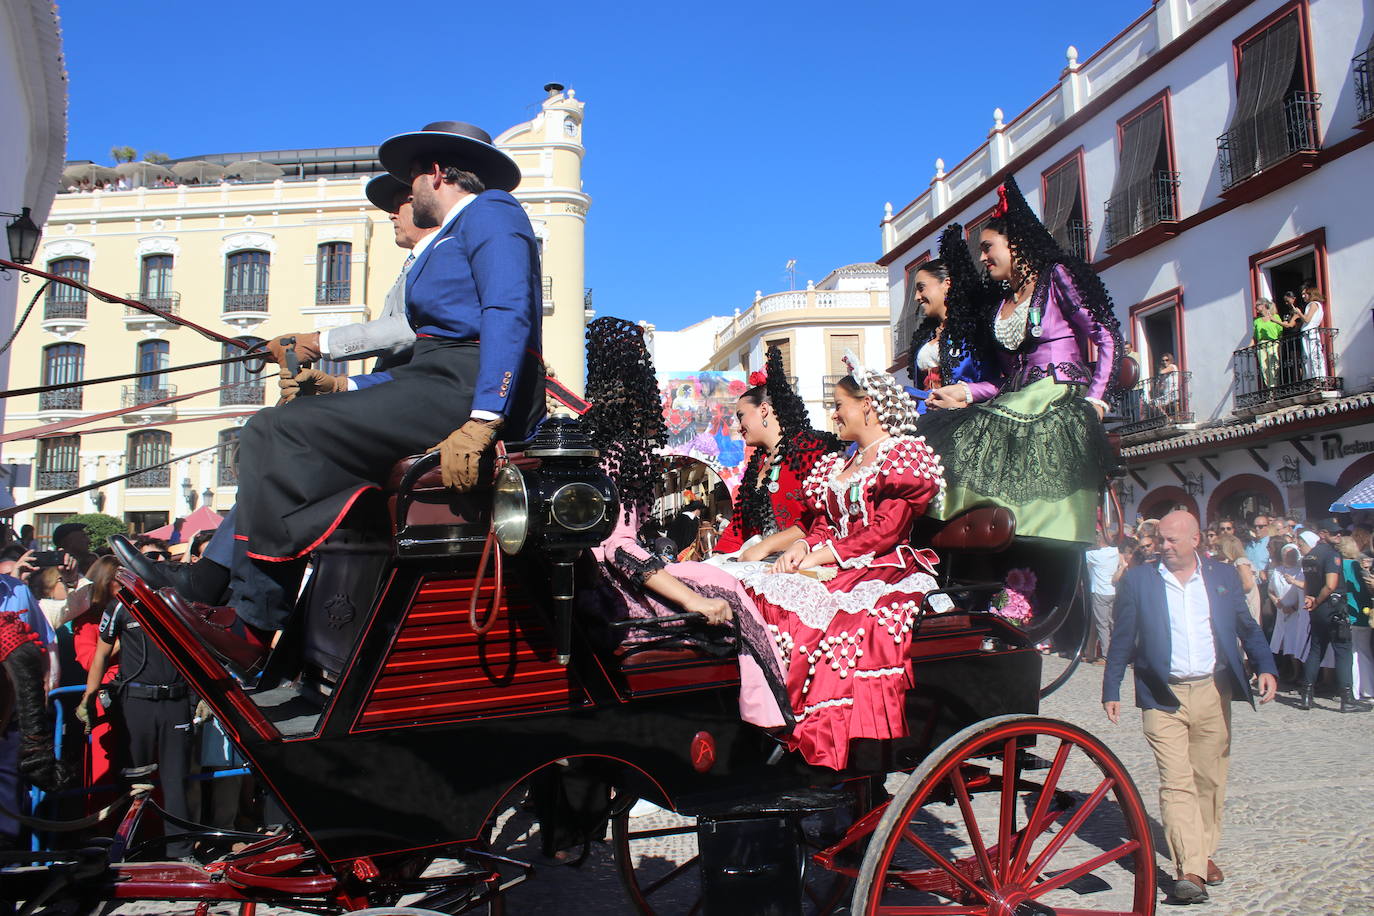
[[[212,534],[199,531],[174,545],[137,536],[133,544],[157,562],[190,562]],[[52,545],[56,549],[36,549],[32,526],[18,534],[0,529],[0,611],[19,614],[38,634],[47,648],[47,688],[77,688],[63,691],[54,709],[67,717],[63,758],[80,761],[80,786],[48,802],[44,816],[96,810],[128,787],[126,769],[151,764],[159,783],[155,798],[173,817],[254,829],[278,814],[250,777],[195,779],[198,772],[234,772],[242,759],[209,709],[122,607],[115,596],[120,563],[109,547],[92,549],[77,523],[59,525]],[[26,808],[18,757],[19,733],[11,722],[0,733],[0,849],[14,846],[21,832],[3,809]],[[172,821],[164,827],[169,857],[196,854]]]

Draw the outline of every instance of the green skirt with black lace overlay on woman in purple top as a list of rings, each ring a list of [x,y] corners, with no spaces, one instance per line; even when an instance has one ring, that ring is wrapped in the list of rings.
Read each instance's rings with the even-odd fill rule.
[[[954,518],[976,505],[1004,505],[1018,538],[1096,542],[1110,446],[1083,386],[1032,382],[981,404],[929,411],[916,434],[944,464],[944,503]]]

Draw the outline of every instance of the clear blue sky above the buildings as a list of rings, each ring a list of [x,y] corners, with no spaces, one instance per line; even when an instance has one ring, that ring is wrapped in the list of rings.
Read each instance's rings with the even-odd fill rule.
[[[67,157],[493,135],[545,82],[587,103],[587,284],[679,328],[879,251],[927,185],[1149,4],[65,0]],[[1052,10],[1052,12],[1051,12]],[[952,14],[952,15],[951,15]]]

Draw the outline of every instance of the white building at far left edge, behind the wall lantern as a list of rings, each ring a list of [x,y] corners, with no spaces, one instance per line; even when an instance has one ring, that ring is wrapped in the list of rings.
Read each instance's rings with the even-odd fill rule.
[[[0,229],[29,209],[36,225],[48,218],[67,148],[67,74],[62,30],[52,0],[0,4]],[[11,257],[8,247],[3,249]],[[0,328],[12,328],[21,295],[36,286],[0,279]],[[8,332],[5,334],[8,336]],[[0,383],[10,387],[10,353],[0,353]],[[5,401],[0,400],[0,424]],[[0,504],[8,501],[12,466],[0,466]],[[22,482],[22,481],[21,481]]]

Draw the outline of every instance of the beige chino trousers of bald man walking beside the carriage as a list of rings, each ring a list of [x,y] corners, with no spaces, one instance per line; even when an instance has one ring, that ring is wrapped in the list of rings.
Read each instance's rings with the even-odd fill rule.
[[[1160,812],[1180,875],[1206,878],[1221,842],[1221,805],[1231,766],[1231,689],[1212,677],[1171,684],[1179,709],[1142,710],[1160,768]]]

